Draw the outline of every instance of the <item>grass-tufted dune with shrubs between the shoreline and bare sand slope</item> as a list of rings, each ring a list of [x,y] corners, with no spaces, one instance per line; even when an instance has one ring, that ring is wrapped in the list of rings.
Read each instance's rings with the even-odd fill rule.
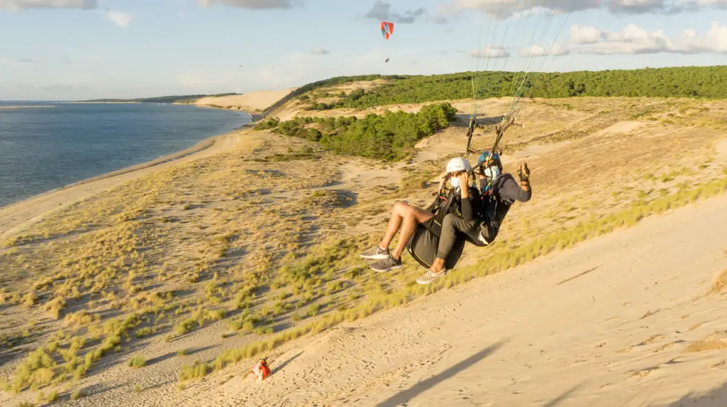
[[[357,99],[361,106],[388,100],[390,83],[377,86]],[[307,89],[301,96],[309,101],[321,91]],[[365,99],[377,92],[380,99]],[[508,102],[492,99],[484,110],[497,117]],[[715,147],[727,130],[723,101],[523,99],[519,120],[527,126],[508,131],[502,147],[513,157],[506,171],[529,156],[534,199],[513,207],[495,244],[467,247],[459,267],[435,284],[414,283],[423,270],[407,255],[403,268],[375,274],[358,252],[378,242],[395,202],[430,202],[443,165],[464,152],[466,130],[455,114],[469,113],[467,103],[364,118],[281,121],[273,113],[226,152],[135,178],[6,236],[2,388],[17,400],[39,392],[73,399],[129,371],[156,369],[134,386],[164,387],[172,374],[183,391],[192,379],[302,335],[727,188]],[[495,123],[484,121],[475,149],[489,147]],[[422,144],[430,140],[459,147],[420,160],[438,148]]]

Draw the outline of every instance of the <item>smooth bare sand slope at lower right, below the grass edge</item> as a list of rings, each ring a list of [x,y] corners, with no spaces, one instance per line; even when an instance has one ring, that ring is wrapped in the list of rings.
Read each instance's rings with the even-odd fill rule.
[[[727,382],[727,351],[683,352],[715,332],[727,339],[727,299],[707,295],[727,267],[726,209],[719,197],[648,218],[344,324],[276,351],[263,383],[210,379],[185,403],[725,406],[712,390]]]

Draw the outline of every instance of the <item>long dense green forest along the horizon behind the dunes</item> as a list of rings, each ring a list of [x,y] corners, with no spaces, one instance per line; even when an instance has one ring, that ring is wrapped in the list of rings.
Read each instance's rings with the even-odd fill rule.
[[[569,73],[466,72],[447,75],[366,75],[339,77],[309,84],[312,90],[350,81],[388,79],[373,89],[356,89],[336,102],[313,101],[309,110],[366,108],[385,104],[522,96],[561,98],[577,96],[727,97],[727,65],[665,67],[639,70],[577,71]],[[473,93],[473,84],[475,92]],[[301,92],[301,95],[305,92]]]

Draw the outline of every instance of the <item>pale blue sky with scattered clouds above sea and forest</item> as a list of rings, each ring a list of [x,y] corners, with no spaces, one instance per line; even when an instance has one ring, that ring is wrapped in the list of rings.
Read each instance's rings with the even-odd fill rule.
[[[0,0],[0,100],[692,65],[727,65],[727,0]]]

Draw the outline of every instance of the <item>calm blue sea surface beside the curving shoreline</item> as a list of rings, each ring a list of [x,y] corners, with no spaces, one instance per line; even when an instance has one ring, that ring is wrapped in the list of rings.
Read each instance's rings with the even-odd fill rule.
[[[0,207],[187,149],[249,121],[245,112],[177,104],[0,102]]]

